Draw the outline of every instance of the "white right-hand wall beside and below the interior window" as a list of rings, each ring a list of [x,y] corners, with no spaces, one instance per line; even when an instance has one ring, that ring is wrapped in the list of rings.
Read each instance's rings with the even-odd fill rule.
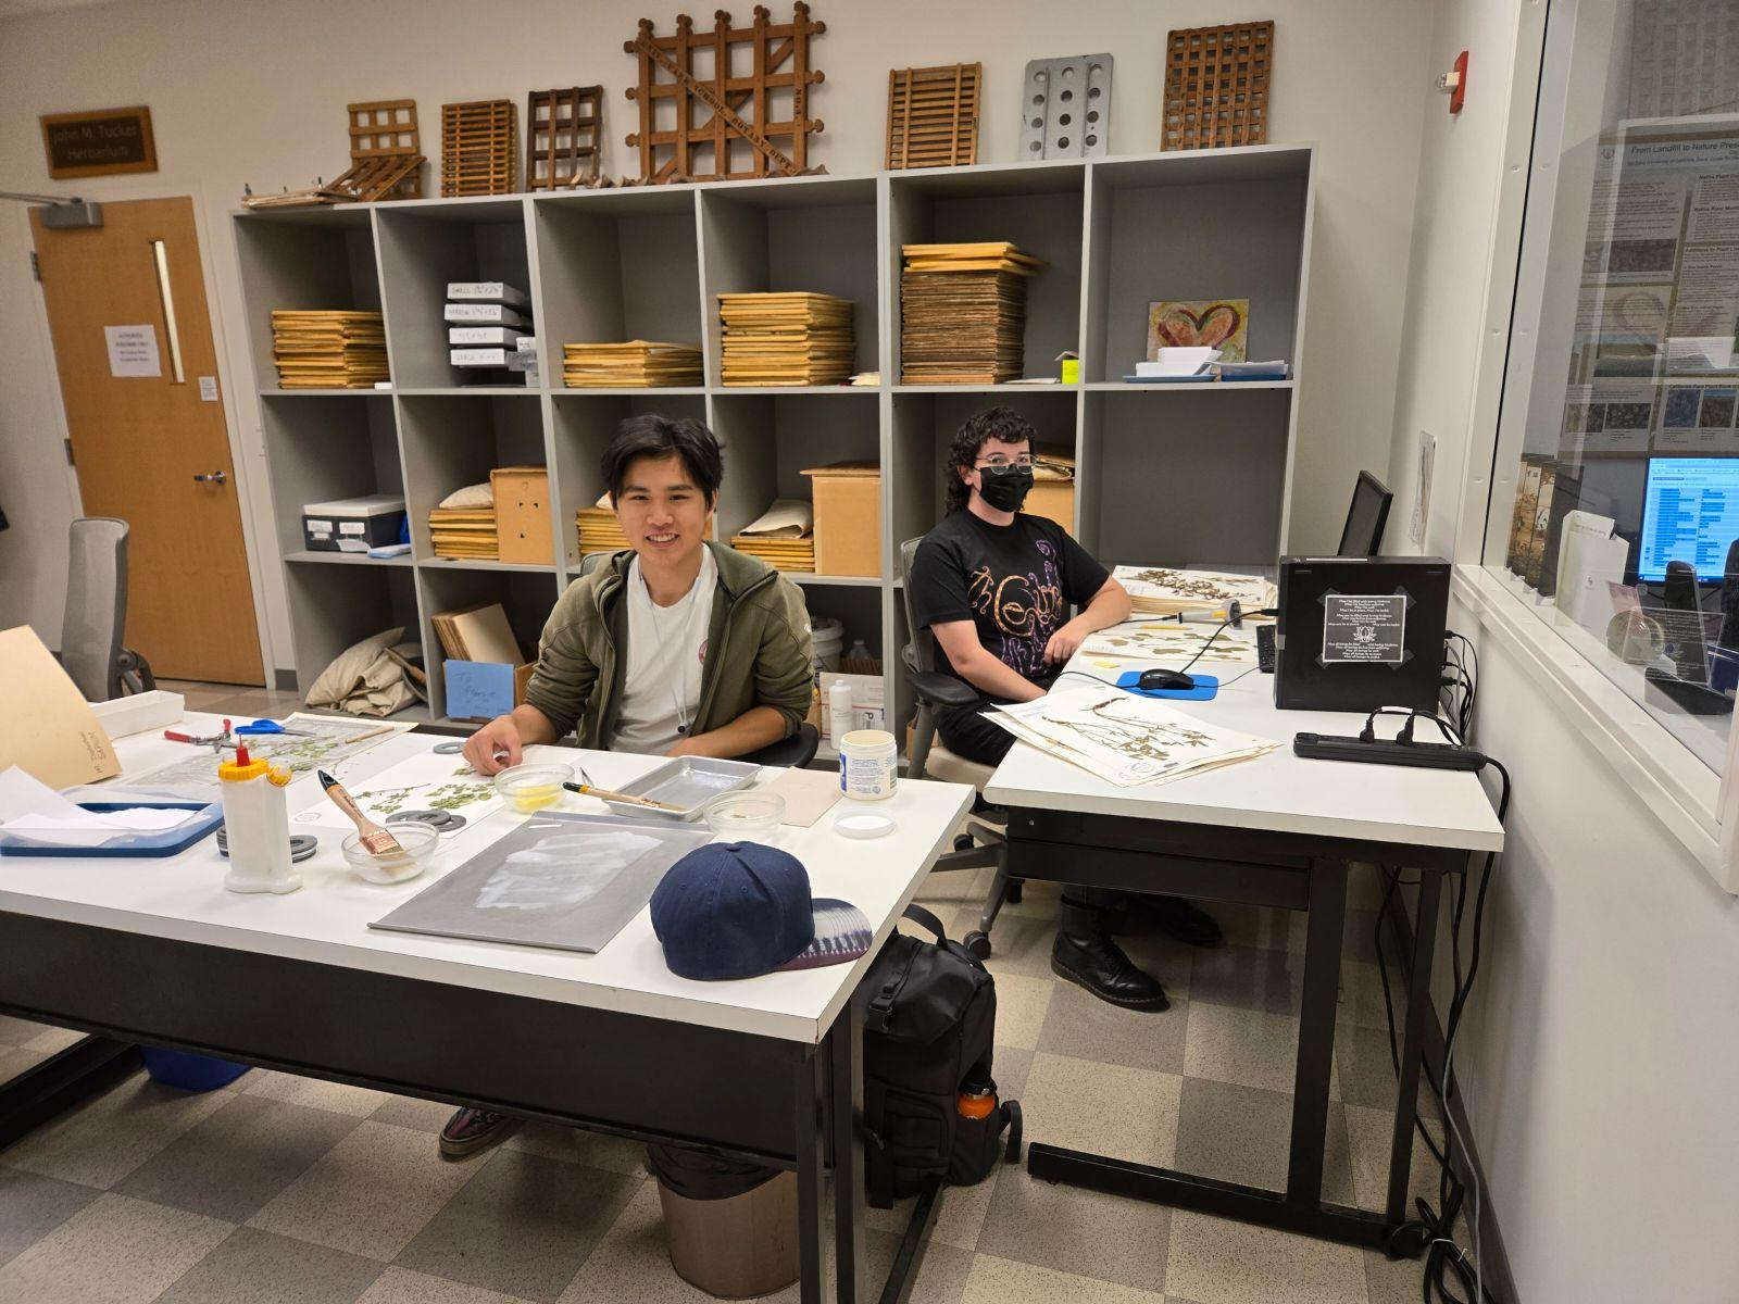
[[[1436,3],[1433,64],[1468,49],[1471,71],[1459,120],[1433,106],[1421,137],[1389,466],[1396,551],[1410,551],[1414,461],[1419,431],[1429,429],[1438,450],[1426,551],[1478,556],[1497,412],[1490,386],[1508,343],[1508,285],[1492,271],[1515,259],[1516,243],[1504,216],[1515,163],[1506,141],[1516,127],[1525,139],[1532,122],[1532,104],[1508,101],[1506,78],[1529,77],[1516,61],[1530,57],[1518,56],[1530,3]],[[1555,21],[1569,7],[1556,5]],[[1612,3],[1582,0],[1589,7]],[[1612,19],[1600,26],[1610,31]],[[1539,163],[1551,184],[1556,160]],[[1482,499],[1466,515],[1464,494]],[[1739,902],[1610,760],[1548,709],[1523,662],[1468,612],[1452,610],[1450,621],[1480,647],[1476,742],[1509,767],[1516,788],[1456,1064],[1520,1297],[1732,1301]],[[1440,1008],[1445,991],[1440,981]]]

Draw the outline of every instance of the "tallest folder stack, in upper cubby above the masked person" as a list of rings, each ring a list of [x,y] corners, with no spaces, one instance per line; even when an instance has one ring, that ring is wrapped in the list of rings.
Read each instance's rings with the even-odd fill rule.
[[[1021,376],[1026,278],[1045,264],[1007,240],[901,245],[901,384],[1000,384]]]

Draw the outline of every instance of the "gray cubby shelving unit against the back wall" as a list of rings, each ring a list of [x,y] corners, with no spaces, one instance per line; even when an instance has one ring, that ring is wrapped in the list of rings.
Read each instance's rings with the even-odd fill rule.
[[[899,675],[908,638],[897,544],[941,511],[941,464],[958,424],[1007,403],[1076,459],[1075,534],[1106,563],[1269,563],[1287,534],[1309,268],[1309,146],[657,186],[485,200],[409,200],[235,214],[275,539],[285,569],[296,675],[390,624],[435,657],[430,617],[499,600],[534,642],[579,575],[574,511],[603,492],[598,459],[640,412],[706,421],[725,449],[718,537],[774,496],[807,497],[805,466],[882,464],[882,577],[791,575],[810,612],[878,649],[896,734],[911,713]],[[901,386],[899,249],[1014,240],[1047,263],[1029,285],[1026,374],[1082,355],[1080,386]],[[449,280],[506,280],[532,296],[544,353],[537,388],[464,388],[447,363]],[[716,297],[823,290],[857,304],[854,370],[876,388],[720,384]],[[1294,379],[1136,386],[1155,299],[1250,301],[1252,358]],[[282,391],[273,308],[379,308],[390,391]],[[706,384],[567,389],[562,344],[668,339],[704,349]],[[555,556],[546,565],[433,555],[428,511],[494,466],[550,468]],[[301,504],[403,492],[412,555],[372,562],[303,549]]]

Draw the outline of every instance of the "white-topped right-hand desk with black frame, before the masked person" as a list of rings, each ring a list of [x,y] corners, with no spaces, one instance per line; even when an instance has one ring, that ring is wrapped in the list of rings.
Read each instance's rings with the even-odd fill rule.
[[[1076,654],[1068,669],[1115,680],[1123,669],[1158,664],[1177,668],[1177,662],[1111,662]],[[1502,824],[1475,774],[1306,760],[1292,753],[1294,734],[1358,734],[1365,716],[1278,711],[1273,676],[1256,671],[1254,661],[1203,661],[1195,669],[1221,676],[1219,695],[1170,706],[1282,746],[1207,774],[1120,788],[1016,742],[986,784],[984,798],[1009,808],[1012,878],[1308,911],[1287,1189],[1266,1191],[1040,1142],[1028,1148],[1028,1167],[1049,1181],[1417,1254],[1423,1245],[1395,1233],[1407,1221],[1438,902],[1445,875],[1466,873],[1473,855],[1502,850]],[[1075,675],[1057,680],[1057,687],[1083,685]],[[1393,735],[1402,722],[1388,716],[1377,723],[1383,735]],[[1438,737],[1435,725],[1419,723],[1421,741]],[[1419,875],[1383,1214],[1322,1201],[1341,930],[1353,862]]]

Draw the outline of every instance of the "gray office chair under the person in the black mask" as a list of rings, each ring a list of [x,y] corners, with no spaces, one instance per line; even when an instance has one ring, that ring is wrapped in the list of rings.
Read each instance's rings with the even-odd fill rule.
[[[906,683],[911,685],[911,694],[918,699],[918,716],[911,723],[911,755],[906,760],[906,775],[970,784],[983,791],[995,768],[956,756],[936,739],[937,713],[951,706],[969,706],[979,695],[953,675],[943,675],[936,669],[936,638],[927,628],[918,628],[918,619],[913,615],[911,563],[918,556],[920,542],[923,539],[906,539],[899,546],[901,598],[906,603],[906,628],[911,629],[911,642],[901,649],[901,659],[906,662]],[[1021,880],[1009,878],[1009,864],[1003,855],[1007,833],[1002,824],[986,814],[974,812],[967,817],[967,833],[955,838],[955,850],[936,857],[932,873],[996,866],[996,878],[989,887],[989,895],[984,897],[984,909],[979,913],[979,927],[962,939],[972,955],[984,960],[991,951],[989,930],[996,923],[1003,902],[1021,901]]]

